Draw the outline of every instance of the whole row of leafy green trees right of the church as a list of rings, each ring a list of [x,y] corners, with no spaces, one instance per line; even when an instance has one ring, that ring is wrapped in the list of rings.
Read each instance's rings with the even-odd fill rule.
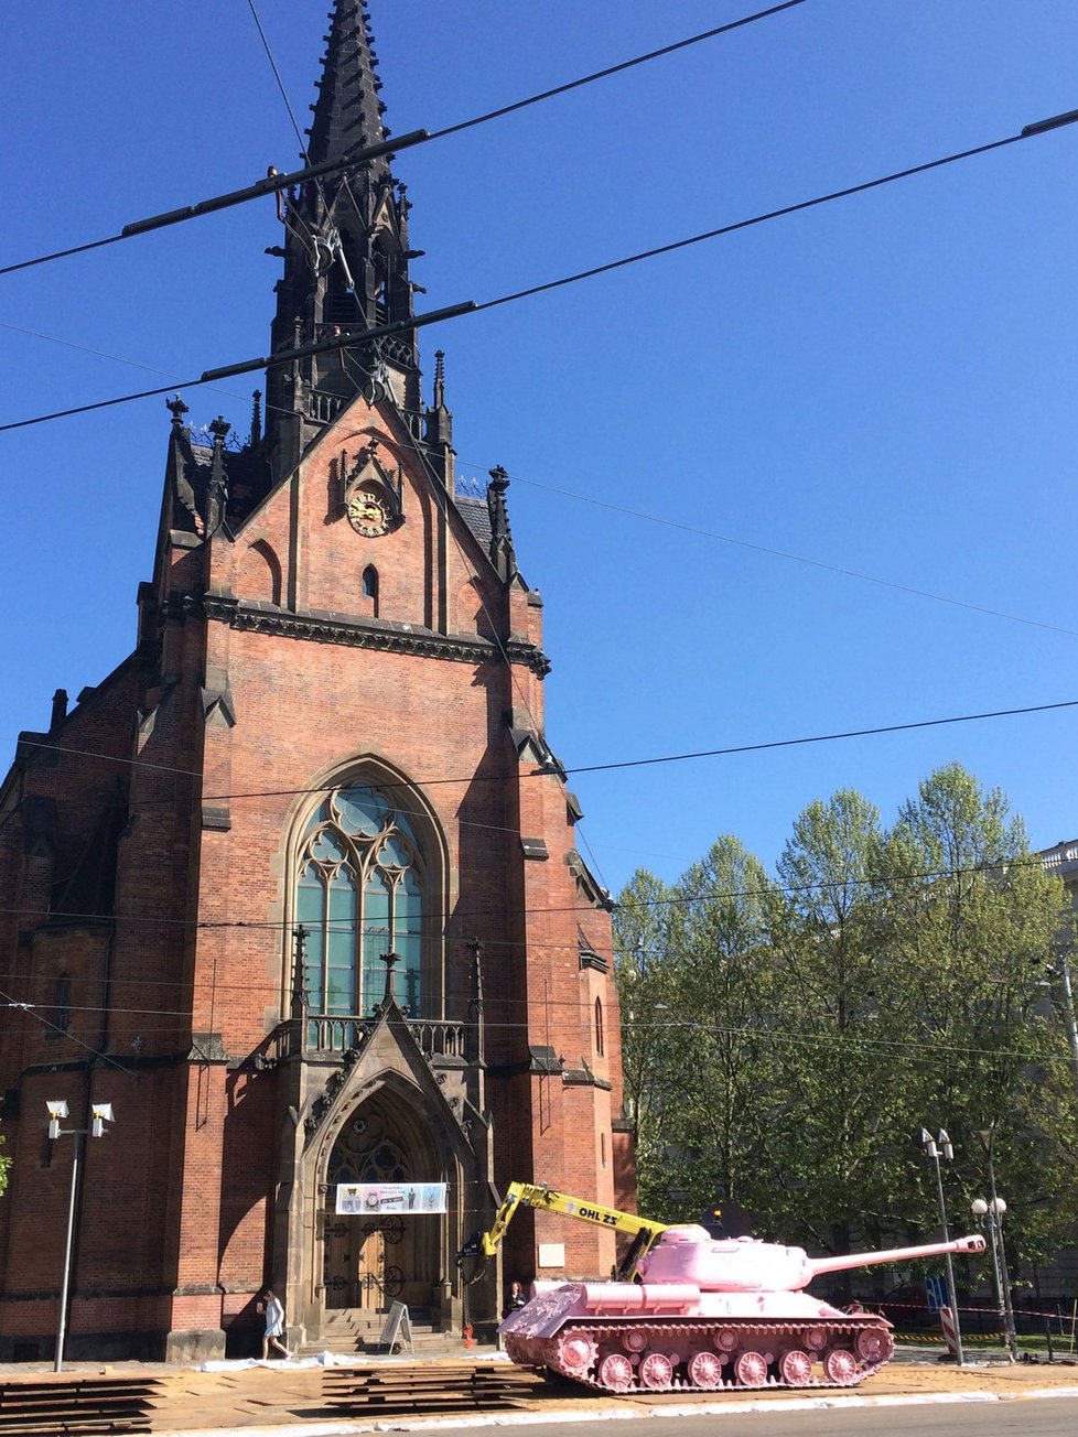
[[[1048,974],[1064,894],[1003,796],[960,766],[890,831],[844,790],[796,819],[770,879],[732,836],[621,895],[617,960],[641,1210],[734,1200],[762,1236],[847,1252],[930,1236],[946,1128],[952,1227],[987,1191],[1046,1260],[1078,1217],[1078,1104]]]

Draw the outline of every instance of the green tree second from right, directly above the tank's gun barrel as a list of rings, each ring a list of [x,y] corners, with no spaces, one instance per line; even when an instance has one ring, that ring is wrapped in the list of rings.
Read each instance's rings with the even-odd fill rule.
[[[785,1040],[769,1147],[786,1187],[770,1219],[785,1236],[835,1252],[893,1230],[910,1165],[910,1013],[881,901],[887,858],[878,810],[842,790],[805,809],[778,865]]]

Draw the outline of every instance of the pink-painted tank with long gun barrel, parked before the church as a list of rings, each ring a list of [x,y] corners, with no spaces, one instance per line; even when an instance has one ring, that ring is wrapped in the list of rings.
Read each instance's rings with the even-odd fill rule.
[[[890,1322],[801,1289],[825,1272],[983,1250],[985,1239],[973,1236],[809,1257],[755,1237],[670,1227],[637,1282],[545,1288],[500,1332],[513,1362],[604,1392],[855,1387],[894,1352]]]

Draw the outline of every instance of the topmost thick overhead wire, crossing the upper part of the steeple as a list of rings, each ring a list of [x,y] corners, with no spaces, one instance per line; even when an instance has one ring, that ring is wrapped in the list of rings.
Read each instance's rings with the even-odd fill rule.
[[[277,79],[277,86],[285,99],[289,116],[292,118],[292,126],[299,135],[285,85],[280,79],[280,73],[270,52],[259,16],[254,10],[254,4],[252,0],[247,0],[247,3],[252,14],[254,16],[254,23],[266,49],[266,56],[269,57],[270,66],[273,68],[273,73]],[[657,60],[664,55],[673,55],[676,50],[684,50],[690,45],[700,45],[703,40],[713,40],[716,36],[727,34],[732,30],[740,30],[743,26],[753,24],[756,20],[768,20],[770,16],[779,14],[782,10],[792,10],[795,6],[803,3],[805,0],[783,0],[782,4],[770,6],[766,10],[757,10],[755,14],[742,16],[740,20],[730,20],[726,24],[714,26],[710,30],[701,30],[700,34],[690,34],[686,40],[676,40],[673,45],[664,45],[658,50],[648,50],[647,55],[637,55],[631,60],[621,60],[618,65],[607,66],[607,69],[602,70],[594,70],[591,75],[582,75],[575,80],[566,80],[565,85],[555,85],[552,89],[540,91],[538,95],[529,95],[526,99],[513,101],[510,105],[502,105],[499,109],[487,111],[483,115],[474,115],[471,119],[463,119],[454,125],[446,125],[443,129],[410,131],[407,135],[385,141],[385,144],[364,147],[346,160],[326,161],[321,165],[308,165],[306,168],[293,171],[292,174],[270,174],[264,180],[257,180],[254,184],[246,185],[243,190],[233,190],[229,194],[214,195],[210,200],[200,200],[197,204],[181,205],[177,210],[168,210],[164,214],[155,214],[147,220],[134,220],[131,224],[125,224],[119,234],[108,234],[99,240],[88,240],[85,244],[73,244],[69,249],[55,250],[50,254],[39,254],[34,256],[34,259],[19,260],[14,264],[0,266],[0,276],[14,274],[17,270],[33,269],[39,264],[49,264],[52,260],[68,259],[73,254],[85,254],[88,250],[99,250],[108,244],[119,244],[122,240],[135,239],[138,234],[148,234],[151,230],[161,230],[170,224],[183,224],[185,220],[197,220],[203,214],[213,214],[217,210],[226,210],[236,204],[246,204],[249,200],[259,200],[267,194],[279,194],[282,190],[286,190],[293,184],[302,184],[308,180],[318,181],[323,175],[336,174],[341,170],[349,170],[367,160],[374,160],[378,155],[394,154],[397,149],[411,149],[415,145],[424,145],[431,139],[444,139],[448,135],[463,134],[467,129],[474,129],[477,125],[486,125],[492,119],[502,119],[505,115],[513,115],[520,109],[528,109],[530,105],[539,105],[542,101],[553,99],[555,96],[565,95],[569,91],[581,89],[584,85],[591,85],[595,80],[618,75],[637,65],[645,65],[648,60]],[[138,398],[144,398],[144,395],[138,395]]]

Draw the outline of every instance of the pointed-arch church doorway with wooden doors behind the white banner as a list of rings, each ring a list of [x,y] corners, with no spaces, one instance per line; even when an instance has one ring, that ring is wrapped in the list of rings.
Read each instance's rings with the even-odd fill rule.
[[[384,1089],[356,1108],[326,1165],[323,1213],[325,1305],[385,1312],[404,1302],[413,1313],[438,1308],[441,1229],[437,1213],[338,1213],[338,1183],[440,1181],[430,1132],[418,1115]]]

